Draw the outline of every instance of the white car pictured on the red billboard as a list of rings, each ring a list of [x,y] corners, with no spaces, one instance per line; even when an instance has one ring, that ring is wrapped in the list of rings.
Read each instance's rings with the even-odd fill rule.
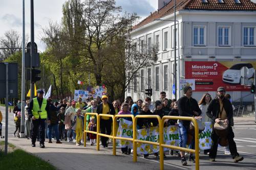
[[[254,68],[250,63],[238,63],[224,71],[222,81],[230,84],[250,85]]]

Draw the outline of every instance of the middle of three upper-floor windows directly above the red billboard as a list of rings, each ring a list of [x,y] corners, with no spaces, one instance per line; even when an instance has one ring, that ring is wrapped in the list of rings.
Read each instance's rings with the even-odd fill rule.
[[[230,45],[230,28],[229,27],[219,27],[218,28],[218,45]]]

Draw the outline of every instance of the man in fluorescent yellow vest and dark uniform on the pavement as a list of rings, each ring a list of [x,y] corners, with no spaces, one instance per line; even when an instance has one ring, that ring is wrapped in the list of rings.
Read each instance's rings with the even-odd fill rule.
[[[46,99],[43,98],[44,89],[37,90],[37,97],[32,99],[29,103],[28,114],[32,119],[32,147],[35,147],[36,136],[39,130],[40,148],[45,148],[45,130],[46,120],[50,124],[50,105]]]

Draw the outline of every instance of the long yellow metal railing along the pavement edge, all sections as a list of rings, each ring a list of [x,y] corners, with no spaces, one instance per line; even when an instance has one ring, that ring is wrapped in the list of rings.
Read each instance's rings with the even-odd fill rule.
[[[86,117],[87,115],[95,115],[97,118],[97,132],[86,130]],[[113,135],[106,135],[99,133],[100,132],[100,117],[110,117],[113,120]],[[120,117],[131,117],[133,121],[133,138],[125,138],[125,137],[117,137],[116,134],[116,120]],[[157,118],[159,123],[159,142],[152,142],[152,141],[145,141],[145,140],[138,140],[137,139],[137,120],[138,118]],[[163,139],[163,128],[164,128],[164,120],[165,119],[180,119],[180,120],[190,120],[193,122],[195,126],[195,150],[193,149],[187,149],[182,147],[176,147],[174,145],[168,145],[164,143]],[[97,113],[86,113],[85,114],[85,120],[84,120],[84,147],[86,147],[86,133],[93,133],[97,135],[97,145],[96,150],[99,151],[99,137],[109,137],[113,139],[113,155],[116,155],[116,139],[120,140],[129,140],[133,141],[133,161],[137,162],[137,143],[146,143],[146,144],[153,144],[159,146],[159,153],[160,153],[160,170],[164,169],[164,151],[163,148],[169,148],[173,150],[180,150],[184,152],[189,153],[195,153],[196,157],[196,170],[199,170],[199,130],[198,130],[198,124],[197,120],[194,117],[185,117],[185,116],[163,116],[162,119],[158,115],[137,115],[134,117],[134,115],[110,115],[110,114],[97,114]]]

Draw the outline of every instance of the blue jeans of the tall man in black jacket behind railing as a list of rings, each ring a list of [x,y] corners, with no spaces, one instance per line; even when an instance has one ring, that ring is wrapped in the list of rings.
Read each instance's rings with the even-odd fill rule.
[[[186,148],[187,143],[187,128],[183,126],[183,123],[179,123],[179,136],[180,136],[180,144],[179,146],[182,148]],[[191,143],[189,143],[189,149],[195,149],[195,138],[192,139]]]

